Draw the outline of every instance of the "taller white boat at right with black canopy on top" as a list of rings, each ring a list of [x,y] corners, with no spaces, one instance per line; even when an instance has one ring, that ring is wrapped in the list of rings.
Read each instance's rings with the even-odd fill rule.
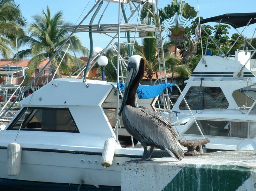
[[[256,13],[224,14],[202,19],[201,24],[230,24],[243,32],[249,24],[255,28],[255,18]],[[239,31],[238,33],[242,34]],[[245,41],[250,47],[250,42]],[[205,109],[249,109],[252,106],[256,99],[256,60],[252,58],[255,49],[252,47],[252,50],[248,50],[248,47],[229,56],[224,53],[207,55],[205,52],[189,79],[185,81],[186,86],[182,91],[193,114]],[[180,96],[172,108],[171,120],[191,116],[188,106]],[[168,114],[163,112],[163,115]]]

